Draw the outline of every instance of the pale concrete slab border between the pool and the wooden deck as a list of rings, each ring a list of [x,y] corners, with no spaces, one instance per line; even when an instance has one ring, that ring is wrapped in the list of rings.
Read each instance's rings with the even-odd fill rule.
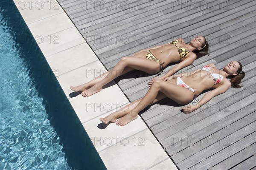
[[[99,117],[129,103],[115,82],[87,98],[68,97],[70,85],[82,84],[84,78],[88,81],[106,70],[58,2],[13,1],[107,169],[177,169],[140,116],[124,127],[99,128]],[[142,156],[140,162],[134,161]]]

